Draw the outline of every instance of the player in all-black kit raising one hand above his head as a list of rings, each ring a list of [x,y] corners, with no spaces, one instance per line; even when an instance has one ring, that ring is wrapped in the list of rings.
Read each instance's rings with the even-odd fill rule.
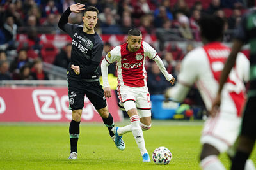
[[[83,26],[69,24],[68,16],[71,12],[79,13],[84,10]],[[58,26],[72,38],[71,60],[68,65],[68,97],[72,109],[72,120],[69,126],[71,152],[68,159],[77,159],[77,141],[79,138],[79,124],[81,122],[84,95],[96,108],[109,135],[115,141],[113,117],[108,111],[106,98],[99,83],[97,68],[100,64],[103,50],[103,41],[95,32],[99,10],[93,6],[84,8],[84,4],[72,4],[61,15]],[[124,141],[122,141],[124,146]]]

